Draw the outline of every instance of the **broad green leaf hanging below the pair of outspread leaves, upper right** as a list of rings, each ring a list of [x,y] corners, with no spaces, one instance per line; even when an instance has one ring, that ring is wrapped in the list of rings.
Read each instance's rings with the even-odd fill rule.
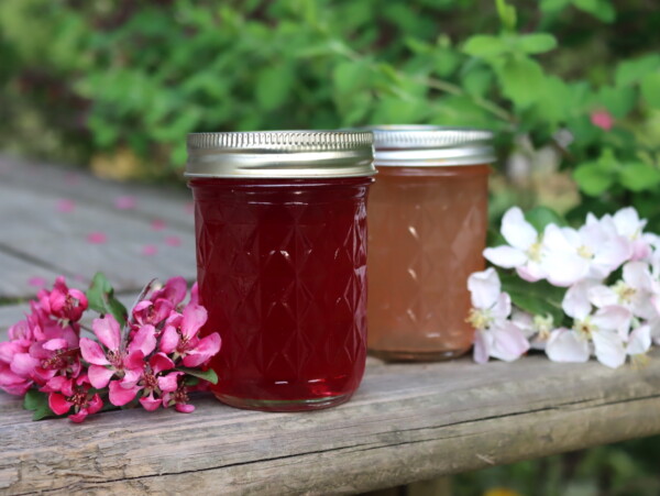
[[[495,67],[504,95],[516,106],[529,107],[540,98],[546,78],[536,60],[512,57]]]

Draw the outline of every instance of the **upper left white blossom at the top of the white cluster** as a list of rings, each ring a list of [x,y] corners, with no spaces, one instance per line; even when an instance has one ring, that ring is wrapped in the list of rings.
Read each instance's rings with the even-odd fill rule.
[[[515,268],[518,275],[530,283],[543,279],[541,268],[543,241],[537,230],[525,220],[522,210],[512,207],[502,218],[502,235],[509,245],[488,247],[484,257],[503,268]]]

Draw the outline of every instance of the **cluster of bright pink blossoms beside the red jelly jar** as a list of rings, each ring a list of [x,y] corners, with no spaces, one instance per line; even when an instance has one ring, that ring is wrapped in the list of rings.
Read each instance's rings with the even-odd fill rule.
[[[19,396],[36,389],[47,397],[48,414],[69,414],[74,422],[105,405],[135,403],[150,411],[173,406],[190,412],[188,393],[208,385],[196,376],[204,375],[221,341],[217,332],[198,335],[207,311],[196,286],[184,305],[186,296],[182,277],[162,287],[150,284],[128,315],[119,312],[120,320],[112,311],[94,319],[97,341],[80,337],[90,293],[69,288],[58,277],[52,290],[42,289],[30,302],[25,319],[9,329],[9,341],[0,343],[0,388]]]

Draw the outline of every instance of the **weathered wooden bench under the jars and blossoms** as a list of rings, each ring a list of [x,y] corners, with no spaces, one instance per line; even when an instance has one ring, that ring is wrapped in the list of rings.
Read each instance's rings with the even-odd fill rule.
[[[117,209],[125,196],[134,208]],[[62,199],[74,209],[58,211]],[[128,299],[154,276],[193,279],[188,203],[176,189],[0,158],[0,337],[38,278],[85,285],[102,269]],[[97,231],[106,243],[86,241]],[[660,432],[660,353],[650,357],[617,371],[538,355],[487,365],[370,359],[351,401],[309,414],[243,411],[201,396],[191,415],[33,422],[0,393],[0,493],[358,493],[650,436]]]

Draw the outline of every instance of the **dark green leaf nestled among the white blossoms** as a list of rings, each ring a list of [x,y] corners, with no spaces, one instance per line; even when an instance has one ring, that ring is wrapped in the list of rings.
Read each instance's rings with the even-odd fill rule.
[[[544,280],[528,283],[516,274],[499,274],[499,278],[502,290],[509,294],[515,306],[535,316],[549,313],[554,324],[561,326],[564,319],[561,308],[566,291],[564,288],[554,287]]]

